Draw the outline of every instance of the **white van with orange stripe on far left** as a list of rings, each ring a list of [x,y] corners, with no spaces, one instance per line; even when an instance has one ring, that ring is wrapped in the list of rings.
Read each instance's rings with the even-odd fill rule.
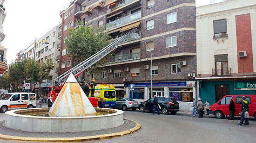
[[[0,98],[0,112],[36,107],[35,93],[7,93]]]

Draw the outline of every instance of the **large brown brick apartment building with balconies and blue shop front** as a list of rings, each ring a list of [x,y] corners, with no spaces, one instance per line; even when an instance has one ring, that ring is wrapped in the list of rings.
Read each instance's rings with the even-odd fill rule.
[[[196,93],[195,0],[74,0],[61,14],[62,32],[70,21],[63,19],[74,8],[75,21],[95,30],[102,26],[113,39],[139,29],[119,45],[103,70],[85,74],[85,81],[95,78],[97,84],[115,85],[118,97],[145,101],[151,98],[152,68],[153,95],[174,97],[181,110],[190,110]]]

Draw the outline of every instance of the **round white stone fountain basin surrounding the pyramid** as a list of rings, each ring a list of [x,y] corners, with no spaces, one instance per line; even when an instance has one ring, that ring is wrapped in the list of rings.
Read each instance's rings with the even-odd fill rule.
[[[27,112],[49,112],[50,108],[20,109],[6,112],[5,126],[21,131],[81,132],[117,127],[123,124],[123,111],[95,108],[96,112],[109,114],[83,117],[41,117],[22,115]]]

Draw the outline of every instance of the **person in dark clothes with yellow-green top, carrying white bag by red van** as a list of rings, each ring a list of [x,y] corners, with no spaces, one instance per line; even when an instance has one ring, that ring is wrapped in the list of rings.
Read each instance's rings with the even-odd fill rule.
[[[239,126],[243,125],[243,121],[245,121],[244,125],[248,126],[249,125],[249,118],[245,118],[244,114],[245,112],[248,113],[249,111],[249,102],[246,100],[246,97],[243,96],[242,99],[239,99],[239,104],[242,104],[241,107],[241,119],[240,119],[240,123],[238,124]]]

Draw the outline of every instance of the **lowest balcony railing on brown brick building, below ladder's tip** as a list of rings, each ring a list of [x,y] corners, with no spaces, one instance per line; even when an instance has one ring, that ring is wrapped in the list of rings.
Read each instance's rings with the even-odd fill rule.
[[[134,54],[125,54],[125,55],[121,55],[121,56],[114,56],[114,57],[111,57],[109,59],[108,63],[139,60],[140,56],[141,56],[141,53],[134,53]]]

